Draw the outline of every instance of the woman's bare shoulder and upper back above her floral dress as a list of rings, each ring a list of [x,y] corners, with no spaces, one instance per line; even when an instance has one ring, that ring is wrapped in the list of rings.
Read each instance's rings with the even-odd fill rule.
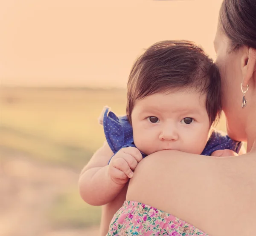
[[[244,208],[251,209],[255,202],[256,191],[251,191],[256,189],[255,168],[249,154],[218,158],[159,151],[137,165],[126,199],[170,213],[209,235],[224,235],[221,230],[237,224]],[[244,193],[249,192],[248,198]],[[238,202],[243,208],[237,207]],[[255,218],[256,211],[250,211],[247,220]],[[230,217],[234,215],[238,217]]]

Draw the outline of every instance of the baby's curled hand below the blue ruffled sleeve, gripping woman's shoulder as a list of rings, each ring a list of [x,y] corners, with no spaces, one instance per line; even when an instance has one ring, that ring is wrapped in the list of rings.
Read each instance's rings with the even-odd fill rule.
[[[133,176],[133,171],[142,160],[139,149],[134,147],[120,149],[109,163],[108,173],[116,184],[125,184]]]

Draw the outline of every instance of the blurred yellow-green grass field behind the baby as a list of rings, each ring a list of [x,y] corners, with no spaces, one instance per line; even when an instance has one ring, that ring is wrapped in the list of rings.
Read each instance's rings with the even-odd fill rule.
[[[102,108],[122,115],[125,104],[125,89],[1,88],[1,148],[79,173],[105,140],[97,120]],[[223,118],[218,128],[225,130]],[[100,208],[85,204],[73,187],[59,193],[49,209],[53,225],[99,224]]]

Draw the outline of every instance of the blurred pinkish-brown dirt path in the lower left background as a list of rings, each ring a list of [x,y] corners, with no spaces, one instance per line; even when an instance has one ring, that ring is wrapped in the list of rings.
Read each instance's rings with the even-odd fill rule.
[[[3,151],[1,150],[3,157]],[[98,228],[52,231],[47,210],[65,189],[77,185],[78,173],[32,162],[19,154],[1,157],[0,232],[2,236],[97,236]]]

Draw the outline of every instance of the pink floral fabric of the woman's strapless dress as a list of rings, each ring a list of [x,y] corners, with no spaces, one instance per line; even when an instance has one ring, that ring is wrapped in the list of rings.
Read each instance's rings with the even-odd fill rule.
[[[125,201],[114,215],[107,236],[209,236],[162,210]]]

